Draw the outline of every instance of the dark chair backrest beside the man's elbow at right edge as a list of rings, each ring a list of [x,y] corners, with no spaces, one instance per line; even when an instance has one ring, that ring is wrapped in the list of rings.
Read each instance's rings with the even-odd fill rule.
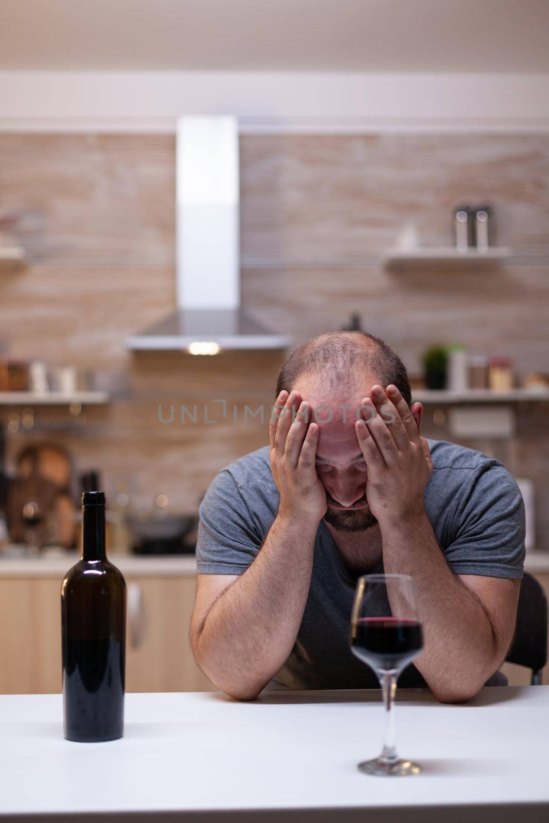
[[[547,663],[547,597],[528,572],[520,584],[517,623],[506,660],[531,668],[533,682],[541,682],[539,673]]]

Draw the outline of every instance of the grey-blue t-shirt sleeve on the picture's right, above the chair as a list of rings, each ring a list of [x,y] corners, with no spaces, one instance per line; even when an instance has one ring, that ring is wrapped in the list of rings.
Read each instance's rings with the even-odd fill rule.
[[[523,576],[523,497],[500,463],[477,467],[460,495],[453,532],[445,557],[456,574]]]

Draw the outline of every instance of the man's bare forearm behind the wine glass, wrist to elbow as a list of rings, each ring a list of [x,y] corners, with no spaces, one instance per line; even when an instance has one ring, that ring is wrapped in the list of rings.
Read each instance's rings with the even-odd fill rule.
[[[425,643],[416,667],[440,700],[472,697],[500,663],[486,611],[449,570],[425,511],[379,526],[385,572],[416,581]]]

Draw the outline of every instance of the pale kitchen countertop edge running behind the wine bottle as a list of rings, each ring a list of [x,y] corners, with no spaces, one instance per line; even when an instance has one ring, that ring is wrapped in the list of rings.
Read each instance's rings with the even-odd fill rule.
[[[0,554],[0,579],[20,577],[54,577],[63,579],[64,574],[77,563],[76,552],[55,557],[5,557]],[[194,555],[116,555],[109,554],[109,560],[118,566],[123,574],[132,577],[147,577],[196,574]],[[524,569],[531,574],[549,573],[549,551],[528,552]]]

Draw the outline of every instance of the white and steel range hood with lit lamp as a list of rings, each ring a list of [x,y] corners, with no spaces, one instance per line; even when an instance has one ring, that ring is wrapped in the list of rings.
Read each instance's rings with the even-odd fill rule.
[[[290,346],[290,337],[240,309],[237,119],[179,118],[176,153],[177,309],[129,337],[128,348],[216,354]]]

